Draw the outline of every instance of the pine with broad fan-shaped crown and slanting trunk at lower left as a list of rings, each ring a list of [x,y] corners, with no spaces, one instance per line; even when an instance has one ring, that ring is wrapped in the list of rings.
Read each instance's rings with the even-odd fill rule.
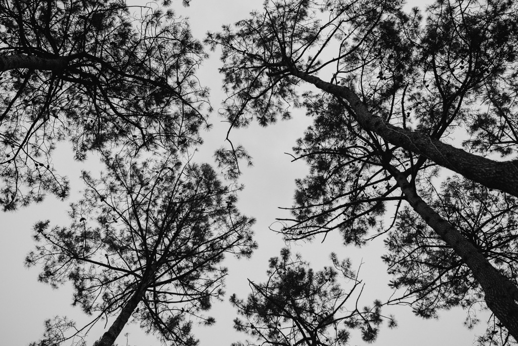
[[[111,316],[97,346],[112,345],[130,318],[167,344],[196,345],[192,320],[214,322],[202,312],[223,295],[223,258],[256,248],[254,220],[235,207],[241,188],[223,185],[207,164],[175,157],[105,162],[100,178],[83,173],[88,188],[71,205],[69,227],[35,225],[37,246],[25,262],[42,267],[42,282],[70,281],[73,305],[92,321],[78,328],[64,317],[48,320],[34,345],[84,343],[91,326]]]

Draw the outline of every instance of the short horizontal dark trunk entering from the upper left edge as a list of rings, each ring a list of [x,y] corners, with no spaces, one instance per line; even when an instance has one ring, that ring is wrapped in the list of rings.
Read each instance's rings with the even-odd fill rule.
[[[36,55],[25,54],[0,55],[0,71],[16,68],[61,71],[66,66],[67,60],[63,57],[47,59]]]

